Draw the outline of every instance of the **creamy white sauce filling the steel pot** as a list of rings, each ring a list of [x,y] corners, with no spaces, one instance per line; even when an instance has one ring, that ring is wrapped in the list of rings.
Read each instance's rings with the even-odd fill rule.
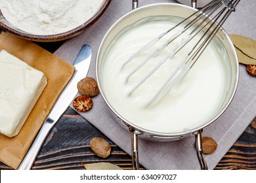
[[[188,48],[182,49],[164,63],[144,84],[130,96],[129,91],[167,54],[167,49],[150,60],[125,84],[126,76],[146,54],[141,54],[121,71],[121,65],[144,44],[154,39],[179,18],[148,18],[130,25],[112,41],[104,54],[101,71],[104,95],[112,108],[125,120],[160,133],[189,132],[217,114],[228,91],[228,59],[224,46],[213,39],[200,59],[192,67],[181,84],[171,90],[156,105],[144,105],[158,92],[161,84],[186,56]],[[167,40],[167,37],[164,38]],[[190,43],[192,44],[192,43]],[[154,48],[159,48],[156,44]],[[171,45],[169,45],[171,46]],[[191,48],[191,45],[188,47]],[[150,48],[151,49],[151,48]],[[154,50],[154,49],[153,49]],[[152,52],[148,50],[147,52]]]

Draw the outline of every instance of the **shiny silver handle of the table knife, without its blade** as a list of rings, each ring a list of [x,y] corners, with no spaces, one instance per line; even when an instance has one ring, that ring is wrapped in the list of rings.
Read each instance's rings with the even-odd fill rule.
[[[30,146],[30,150],[28,150],[26,156],[20,163],[18,170],[30,170],[32,168],[35,158],[37,157],[39,150],[41,150],[43,142],[45,142],[49,131],[53,127],[51,124],[53,124],[53,120],[51,120],[51,118],[47,118],[45,124],[42,125],[39,133],[37,134],[37,137],[33,141],[33,144]]]

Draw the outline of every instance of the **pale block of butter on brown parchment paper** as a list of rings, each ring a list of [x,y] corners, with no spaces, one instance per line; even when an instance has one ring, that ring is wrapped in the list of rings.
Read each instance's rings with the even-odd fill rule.
[[[41,71],[1,50],[0,133],[18,135],[46,85],[47,78]]]

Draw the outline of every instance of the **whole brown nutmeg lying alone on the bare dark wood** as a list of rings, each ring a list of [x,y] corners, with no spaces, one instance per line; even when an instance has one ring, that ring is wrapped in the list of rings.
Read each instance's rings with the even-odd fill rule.
[[[91,150],[101,158],[107,158],[110,156],[111,146],[105,139],[101,137],[95,137],[90,142]]]

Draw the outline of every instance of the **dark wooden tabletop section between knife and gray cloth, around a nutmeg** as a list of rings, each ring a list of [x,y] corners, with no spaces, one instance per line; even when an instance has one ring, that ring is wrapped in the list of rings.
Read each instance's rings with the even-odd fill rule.
[[[106,159],[96,156],[89,143],[102,137],[112,146]],[[83,163],[109,162],[131,169],[131,156],[123,152],[87,120],[68,108],[47,138],[33,169],[85,169]]]

